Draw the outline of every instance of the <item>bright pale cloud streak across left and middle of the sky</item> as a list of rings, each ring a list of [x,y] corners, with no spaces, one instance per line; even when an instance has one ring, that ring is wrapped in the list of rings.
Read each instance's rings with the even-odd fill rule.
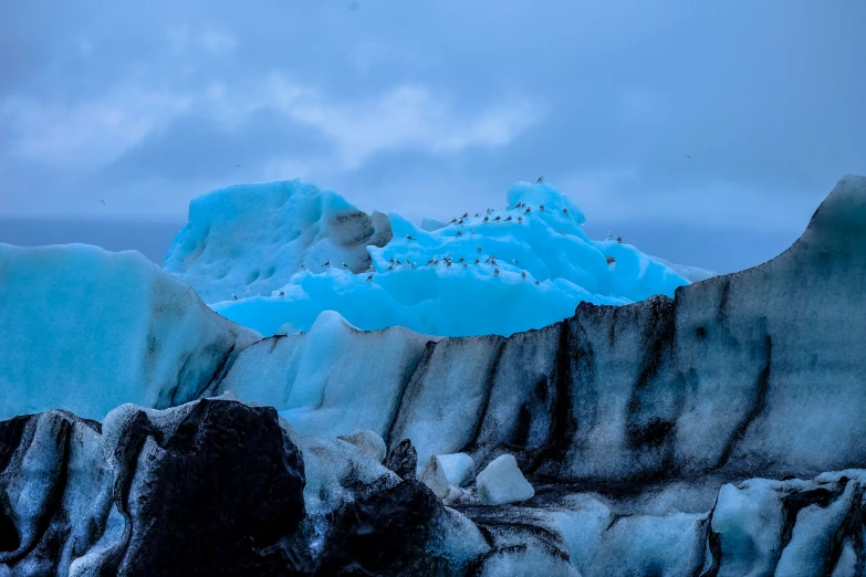
[[[271,73],[238,85],[216,82],[190,91],[127,84],[74,105],[13,97],[0,106],[0,118],[10,125],[19,155],[56,167],[93,169],[181,115],[195,113],[217,126],[242,130],[262,111],[277,112],[324,136],[333,158],[320,162],[340,170],[356,169],[378,153],[400,148],[453,154],[470,147],[502,147],[541,117],[538,106],[520,99],[461,113],[447,96],[420,85],[338,101]]]

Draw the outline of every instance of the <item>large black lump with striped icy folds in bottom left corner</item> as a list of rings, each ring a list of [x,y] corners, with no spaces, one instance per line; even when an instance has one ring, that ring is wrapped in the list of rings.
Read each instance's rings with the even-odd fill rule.
[[[271,408],[124,406],[0,423],[0,567],[11,575],[292,575],[304,464]]]

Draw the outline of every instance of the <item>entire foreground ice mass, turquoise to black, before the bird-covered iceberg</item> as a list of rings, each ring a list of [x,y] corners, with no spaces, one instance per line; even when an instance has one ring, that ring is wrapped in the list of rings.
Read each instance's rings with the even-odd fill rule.
[[[0,575],[862,575],[865,224],[847,177],[763,265],[510,337],[259,339],[0,246],[7,413],[145,405],[0,421]]]

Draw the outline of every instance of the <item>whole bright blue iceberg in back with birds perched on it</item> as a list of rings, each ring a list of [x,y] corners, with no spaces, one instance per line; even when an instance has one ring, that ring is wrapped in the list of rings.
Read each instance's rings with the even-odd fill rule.
[[[336,311],[365,331],[508,336],[580,302],[625,304],[688,284],[629,244],[591,240],[580,208],[547,183],[513,185],[508,207],[417,227],[396,212],[371,219],[299,181],[242,185],[194,200],[165,266],[264,335],[306,332]]]

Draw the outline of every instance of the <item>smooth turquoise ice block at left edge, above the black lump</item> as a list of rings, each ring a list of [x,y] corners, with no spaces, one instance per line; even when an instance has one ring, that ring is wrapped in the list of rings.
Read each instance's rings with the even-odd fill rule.
[[[260,335],[137,252],[0,244],[0,419],[198,398]]]

